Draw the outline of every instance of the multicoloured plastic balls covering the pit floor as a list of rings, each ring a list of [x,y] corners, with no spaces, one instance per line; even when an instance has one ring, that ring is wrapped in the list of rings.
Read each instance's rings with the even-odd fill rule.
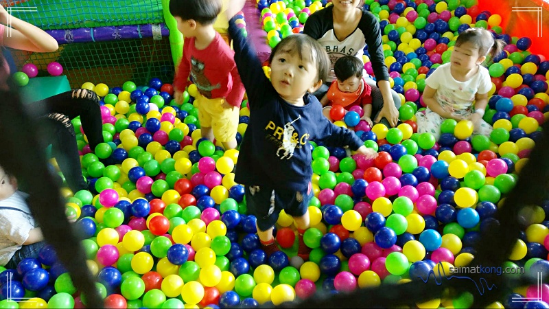
[[[259,0],[269,44],[299,32],[321,3]],[[549,61],[528,53],[529,38],[502,34],[497,12],[481,12],[471,0],[366,0],[366,8],[382,19],[391,87],[403,102],[402,124],[370,128],[352,114],[360,111],[344,117],[334,112],[337,125],[353,128],[379,152],[374,160],[310,143],[315,197],[309,206],[311,228],[303,236],[312,248],[308,262],[295,257],[296,228],[284,213],[276,234],[283,253],[267,258],[261,251],[255,217],[246,214],[244,188],[234,181],[237,150],[200,139],[196,86],[178,105],[171,102],[170,81],[158,78],[139,87],[133,82],[113,88],[82,85],[102,98],[105,143],[91,153],[80,120],[73,120],[90,188],[62,194],[67,214],[80,218],[76,225],[86,236],[82,245],[89,268],[107,306],[277,305],[315,291],[345,293],[426,278],[436,266],[447,272],[474,258],[479,231],[498,224],[498,207],[548,119]],[[284,33],[276,31],[281,25],[288,25]],[[471,137],[471,124],[447,120],[438,141],[430,133],[418,135],[414,114],[423,107],[425,78],[449,60],[456,35],[471,26],[491,29],[507,43],[489,65],[492,89],[484,120],[493,133]],[[366,70],[372,73],[369,63]],[[248,121],[243,104],[239,143]],[[532,215],[504,266],[547,272],[549,201],[528,211]],[[0,308],[85,306],[49,245],[37,259],[0,269],[0,279],[12,279],[0,288]],[[542,301],[524,308],[549,308],[549,285],[541,291]],[[491,308],[522,308],[513,297],[535,293],[535,286],[519,288]],[[18,304],[6,300],[8,294],[30,299]],[[447,298],[416,305],[467,304],[467,299]]]

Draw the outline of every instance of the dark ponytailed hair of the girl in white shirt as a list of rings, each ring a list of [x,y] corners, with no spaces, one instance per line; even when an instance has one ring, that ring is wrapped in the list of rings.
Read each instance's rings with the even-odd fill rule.
[[[502,52],[505,46],[505,41],[494,39],[491,32],[480,27],[469,28],[461,32],[456,39],[456,46],[466,42],[478,47],[478,55],[481,57],[489,55],[491,58],[494,58]]]

